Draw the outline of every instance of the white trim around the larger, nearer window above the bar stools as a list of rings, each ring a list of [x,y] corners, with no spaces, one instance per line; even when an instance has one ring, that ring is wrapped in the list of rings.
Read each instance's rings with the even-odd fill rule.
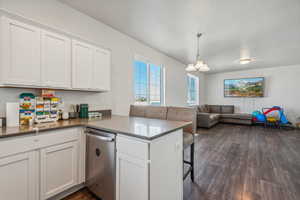
[[[151,62],[151,59],[145,57],[145,56],[141,56],[139,54],[135,54],[134,57],[133,57],[133,63],[135,61],[141,61],[141,62],[144,62],[147,64],[147,79],[148,79],[148,82],[147,82],[147,102],[146,103],[138,103],[135,101],[135,91],[134,91],[134,87],[133,87],[133,99],[134,99],[134,104],[135,105],[151,105],[150,104],[150,72],[149,72],[149,69],[150,69],[150,65],[155,65],[155,66],[159,66],[161,67],[161,73],[160,73],[160,80],[161,80],[161,88],[160,88],[160,105],[158,106],[164,106],[165,105],[165,67],[162,65],[162,64],[157,64],[156,62]],[[134,79],[133,80],[133,85],[134,85]]]

